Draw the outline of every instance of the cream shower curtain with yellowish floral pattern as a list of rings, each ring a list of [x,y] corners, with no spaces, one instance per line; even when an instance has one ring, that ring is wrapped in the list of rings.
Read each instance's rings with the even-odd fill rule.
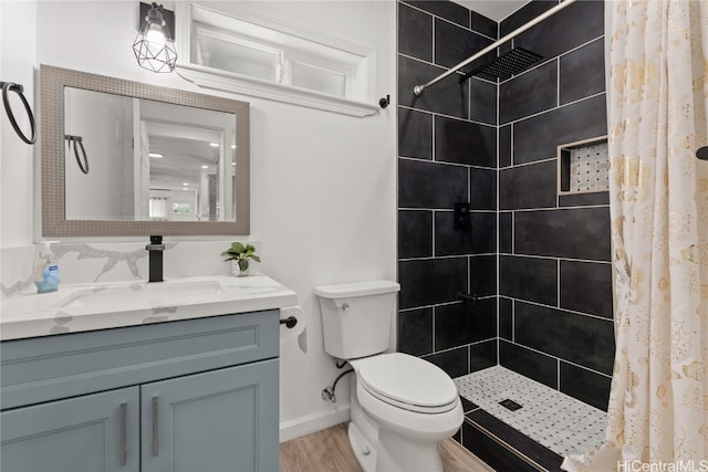
[[[563,468],[708,470],[708,1],[607,1],[605,43],[615,368]]]

